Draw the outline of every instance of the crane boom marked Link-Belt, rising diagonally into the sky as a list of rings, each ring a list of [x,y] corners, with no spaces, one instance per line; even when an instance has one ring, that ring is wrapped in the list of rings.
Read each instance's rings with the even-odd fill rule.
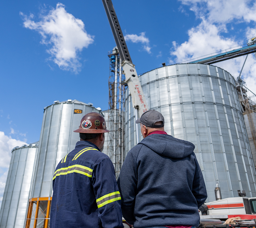
[[[132,105],[138,109],[138,114],[141,116],[143,112],[148,110],[148,105],[142,91],[135,65],[131,61],[130,53],[126,46],[125,38],[119,25],[112,1],[102,0],[102,2],[108,16],[108,21],[115,38],[120,58],[122,60],[125,82],[127,83],[131,92]]]

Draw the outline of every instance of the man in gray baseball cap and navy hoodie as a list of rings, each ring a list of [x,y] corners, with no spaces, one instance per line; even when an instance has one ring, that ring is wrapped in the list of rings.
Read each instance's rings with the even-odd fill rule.
[[[123,217],[134,227],[198,226],[207,192],[194,144],[167,135],[158,111],[136,123],[143,140],[127,154],[118,179]]]

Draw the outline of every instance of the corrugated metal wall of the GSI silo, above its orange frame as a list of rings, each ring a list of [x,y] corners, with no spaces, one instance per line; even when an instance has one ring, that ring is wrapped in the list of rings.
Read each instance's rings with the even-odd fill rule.
[[[82,113],[75,113],[75,109],[82,110]],[[55,103],[45,108],[32,197],[52,195],[54,170],[80,140],[79,133],[73,131],[79,127],[82,117],[89,112],[100,113],[95,107],[77,100]]]

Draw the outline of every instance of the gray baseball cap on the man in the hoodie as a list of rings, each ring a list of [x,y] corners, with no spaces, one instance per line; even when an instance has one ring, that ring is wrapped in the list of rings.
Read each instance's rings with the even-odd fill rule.
[[[161,125],[154,125],[156,122],[162,121]],[[144,112],[139,119],[136,120],[136,124],[142,123],[147,127],[160,128],[165,125],[165,119],[163,115],[156,110],[148,110]]]

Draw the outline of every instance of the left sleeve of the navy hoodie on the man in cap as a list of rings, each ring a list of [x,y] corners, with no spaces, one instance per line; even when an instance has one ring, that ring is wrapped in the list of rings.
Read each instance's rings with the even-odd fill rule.
[[[134,217],[134,205],[138,182],[137,147],[139,146],[133,147],[130,152],[127,153],[117,181],[121,193],[123,217],[131,225],[136,220]]]

